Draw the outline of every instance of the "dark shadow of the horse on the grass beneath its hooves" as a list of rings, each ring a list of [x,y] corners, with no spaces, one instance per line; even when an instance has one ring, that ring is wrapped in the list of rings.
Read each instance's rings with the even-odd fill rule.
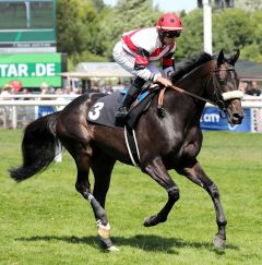
[[[95,249],[98,249],[98,239],[97,237],[58,237],[58,236],[37,236],[29,238],[17,238],[19,241],[64,241],[72,244],[88,244]],[[182,239],[177,238],[163,238],[155,234],[136,234],[130,238],[123,237],[111,237],[114,243],[117,246],[121,248],[122,245],[128,245],[131,248],[142,249],[144,251],[153,252],[164,252],[169,254],[178,254],[176,249],[206,249],[216,253],[217,255],[224,255],[226,250],[236,250],[239,251],[237,245],[228,244],[225,250],[217,250],[213,243],[206,242],[189,242],[183,241]]]

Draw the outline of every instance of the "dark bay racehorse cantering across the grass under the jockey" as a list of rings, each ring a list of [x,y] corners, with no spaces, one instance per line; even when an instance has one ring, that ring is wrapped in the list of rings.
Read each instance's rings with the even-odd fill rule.
[[[144,220],[145,227],[166,221],[179,200],[179,189],[168,173],[169,169],[175,169],[210,194],[218,226],[213,242],[215,246],[224,248],[227,221],[218,189],[204,172],[196,156],[202,145],[200,118],[205,100],[218,106],[231,124],[240,124],[243,119],[239,80],[234,68],[238,57],[239,50],[229,58],[223,50],[218,57],[201,53],[171,77],[174,85],[192,96],[167,88],[164,117],[157,115],[158,103],[154,97],[136,123],[141,170],[163,186],[168,195],[159,213]],[[57,146],[64,146],[76,164],[75,188],[94,210],[99,239],[108,250],[115,250],[105,212],[106,194],[116,160],[129,165],[132,161],[123,130],[87,122],[87,112],[93,104],[88,95],[82,95],[63,110],[32,122],[23,136],[23,165],[10,172],[17,182],[28,179],[53,160]],[[95,179],[93,192],[88,181],[90,169]]]

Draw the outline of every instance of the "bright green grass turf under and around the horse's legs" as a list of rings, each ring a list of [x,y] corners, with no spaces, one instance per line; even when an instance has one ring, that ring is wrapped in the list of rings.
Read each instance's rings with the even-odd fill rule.
[[[92,209],[74,189],[75,166],[61,164],[21,183],[8,168],[21,162],[22,131],[0,130],[0,264],[262,264],[262,135],[206,132],[199,160],[219,188],[228,220],[227,249],[216,250],[211,198],[170,171],[180,201],[165,224],[144,228],[167,195],[147,176],[117,164],[107,196],[111,237],[100,250]],[[93,178],[91,177],[91,182]]]

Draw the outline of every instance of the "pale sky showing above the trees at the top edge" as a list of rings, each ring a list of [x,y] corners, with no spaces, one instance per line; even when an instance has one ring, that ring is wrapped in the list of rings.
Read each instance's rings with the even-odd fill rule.
[[[104,0],[106,4],[115,5],[117,0]],[[191,11],[198,5],[198,0],[153,0],[154,5],[158,4],[162,11]]]

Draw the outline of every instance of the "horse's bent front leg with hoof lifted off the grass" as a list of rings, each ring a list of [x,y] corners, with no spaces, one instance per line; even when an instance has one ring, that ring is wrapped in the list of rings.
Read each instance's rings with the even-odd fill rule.
[[[147,217],[144,221],[145,227],[152,227],[159,222],[166,221],[174,204],[179,200],[179,189],[167,172],[160,158],[155,158],[150,162],[146,162],[142,169],[158,184],[160,184],[168,193],[168,201],[163,209],[158,214]]]

